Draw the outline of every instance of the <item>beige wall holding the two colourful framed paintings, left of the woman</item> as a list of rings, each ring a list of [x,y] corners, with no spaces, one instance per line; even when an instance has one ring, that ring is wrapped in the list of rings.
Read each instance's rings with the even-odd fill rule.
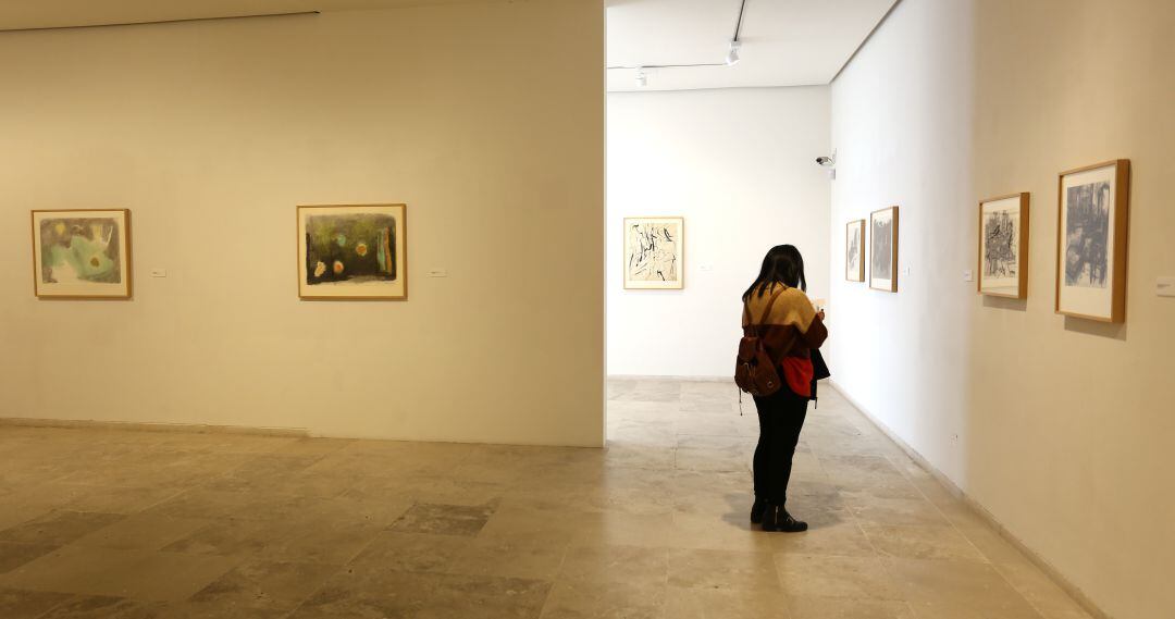
[[[603,19],[0,33],[0,417],[600,445]],[[408,301],[298,301],[295,206],[381,202],[408,204]],[[105,207],[134,300],[35,300],[28,211]]]

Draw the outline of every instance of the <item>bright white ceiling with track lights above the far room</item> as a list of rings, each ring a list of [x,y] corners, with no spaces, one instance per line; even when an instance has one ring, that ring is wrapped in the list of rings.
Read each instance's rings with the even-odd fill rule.
[[[739,63],[723,62],[740,0],[607,0],[607,89],[811,86],[832,81],[898,0],[746,0]],[[717,67],[647,68],[717,63]]]

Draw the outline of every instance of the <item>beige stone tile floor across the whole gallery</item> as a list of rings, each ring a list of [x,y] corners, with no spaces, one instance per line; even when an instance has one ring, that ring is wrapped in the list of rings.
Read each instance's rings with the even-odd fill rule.
[[[0,617],[1088,617],[824,396],[800,534],[728,384],[612,382],[606,451],[0,428]]]

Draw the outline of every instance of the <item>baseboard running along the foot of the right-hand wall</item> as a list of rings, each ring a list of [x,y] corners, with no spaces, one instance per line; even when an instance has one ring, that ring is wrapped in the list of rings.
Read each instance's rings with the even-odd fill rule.
[[[962,502],[975,516],[983,520],[988,526],[995,530],[1008,544],[1012,544],[1021,554],[1023,554],[1033,565],[1035,565],[1040,571],[1045,572],[1045,576],[1053,579],[1062,591],[1065,591],[1074,601],[1077,603],[1094,619],[1113,619],[1109,614],[1102,611],[1089,596],[1086,594],[1080,587],[1074,585],[1063,573],[1061,573],[1056,567],[1054,567],[1048,560],[1036,553],[1027,544],[1025,544],[1020,538],[1018,538],[1012,531],[1008,531],[1003,523],[998,520],[995,516],[987,510],[981,503],[975,500],[974,497],[968,494],[961,487],[955,485],[949,477],[947,477],[942,471],[938,470],[926,457],[918,452],[914,448],[909,446],[900,436],[898,436],[888,425],[882,423],[877,416],[874,416],[870,410],[858,402],[853,396],[845,390],[844,386],[838,384],[835,381],[828,381],[828,384],[840,393],[862,417],[870,420],[882,435],[889,440],[893,440],[895,445],[901,448],[906,456],[913,459],[919,466],[926,472],[931,473],[934,479],[942,485],[955,498]]]

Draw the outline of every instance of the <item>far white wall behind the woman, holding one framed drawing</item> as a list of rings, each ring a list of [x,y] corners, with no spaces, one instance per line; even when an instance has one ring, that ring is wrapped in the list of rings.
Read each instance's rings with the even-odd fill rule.
[[[828,112],[827,87],[607,95],[610,376],[732,376],[739,297],[773,245],[827,295]],[[663,215],[685,217],[685,287],[625,290],[624,218]]]

